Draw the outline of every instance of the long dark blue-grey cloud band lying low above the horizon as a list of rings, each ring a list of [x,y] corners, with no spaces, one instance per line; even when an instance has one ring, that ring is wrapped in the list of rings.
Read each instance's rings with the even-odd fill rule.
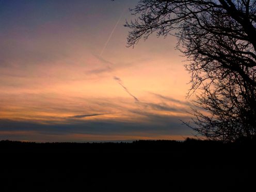
[[[66,122],[33,122],[21,120],[0,119],[1,132],[38,132],[42,134],[68,135],[68,134],[119,134],[127,135],[133,133],[156,133],[187,135],[191,130],[182,125],[179,119],[187,120],[189,117],[174,117],[167,115],[157,115],[146,111],[134,110],[134,113],[147,116],[146,121],[128,122],[116,119],[97,119],[85,121],[83,118],[68,118]],[[4,138],[2,138],[4,139]]]

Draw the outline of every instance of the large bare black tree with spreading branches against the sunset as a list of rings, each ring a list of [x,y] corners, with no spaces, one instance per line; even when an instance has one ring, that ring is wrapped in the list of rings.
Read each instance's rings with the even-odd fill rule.
[[[141,38],[174,35],[188,58],[196,89],[193,125],[209,139],[233,141],[256,134],[256,1],[140,0],[126,22],[128,46]]]

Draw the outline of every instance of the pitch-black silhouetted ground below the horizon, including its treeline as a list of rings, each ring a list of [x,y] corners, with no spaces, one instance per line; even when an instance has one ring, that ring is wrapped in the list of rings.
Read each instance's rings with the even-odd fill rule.
[[[253,191],[255,149],[196,140],[0,141],[0,191]]]

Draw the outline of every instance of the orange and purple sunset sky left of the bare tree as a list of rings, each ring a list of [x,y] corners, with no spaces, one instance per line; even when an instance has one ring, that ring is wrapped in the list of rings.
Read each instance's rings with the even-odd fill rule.
[[[137,1],[0,1],[0,140],[183,140],[185,58],[168,36],[126,46]]]

